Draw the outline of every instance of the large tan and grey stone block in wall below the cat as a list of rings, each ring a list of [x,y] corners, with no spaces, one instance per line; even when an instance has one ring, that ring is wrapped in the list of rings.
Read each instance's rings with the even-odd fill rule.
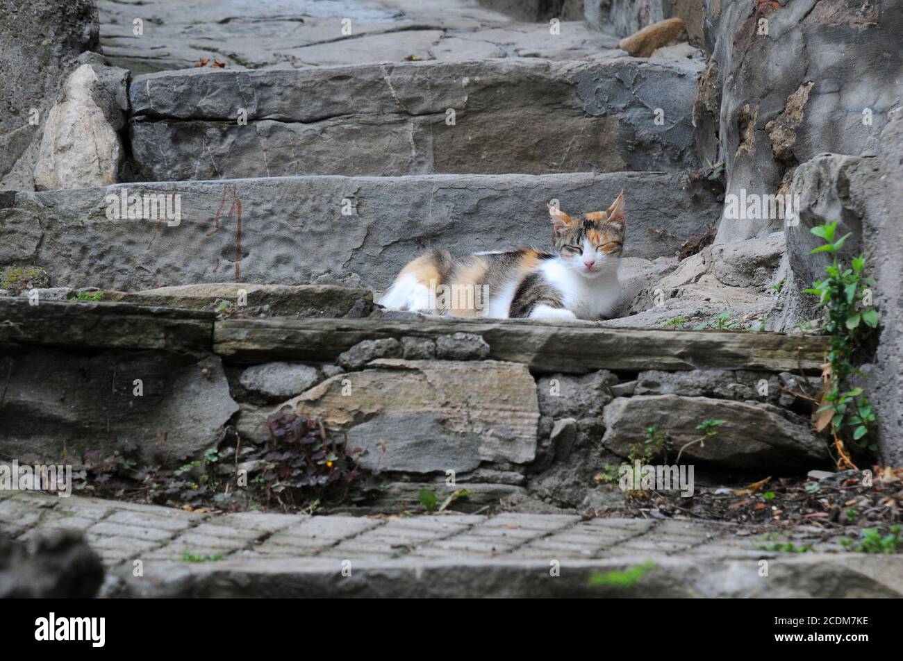
[[[368,470],[444,473],[535,456],[539,408],[523,365],[379,358],[287,404],[348,430]]]

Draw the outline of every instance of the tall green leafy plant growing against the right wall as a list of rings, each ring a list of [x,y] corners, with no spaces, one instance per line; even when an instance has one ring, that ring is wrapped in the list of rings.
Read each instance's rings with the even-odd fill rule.
[[[844,445],[844,438],[851,438],[862,448],[874,451],[874,444],[866,440],[870,428],[875,424],[875,414],[869,400],[859,387],[850,388],[849,379],[859,374],[853,365],[853,356],[864,341],[869,329],[877,328],[878,312],[866,305],[870,293],[865,290],[874,287],[871,278],[863,275],[865,259],[853,257],[849,267],[842,265],[837,257],[851,233],[834,239],[837,223],[825,223],[812,228],[816,237],[824,240],[824,245],[816,247],[813,253],[830,253],[831,265],[825,267],[823,280],[805,293],[818,296],[818,305],[824,309],[822,328],[830,337],[828,365],[825,369],[825,388],[821,405],[816,412],[815,428],[821,431],[828,424],[834,445],[840,455],[838,464],[843,468],[855,468]]]

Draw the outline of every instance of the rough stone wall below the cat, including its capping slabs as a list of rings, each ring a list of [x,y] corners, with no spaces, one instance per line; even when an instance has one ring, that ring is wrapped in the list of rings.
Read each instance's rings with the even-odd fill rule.
[[[807,375],[824,351],[815,338],[378,316],[218,321],[22,298],[0,298],[0,309],[10,320],[0,331],[9,421],[0,452],[23,460],[78,465],[88,451],[137,448],[179,466],[230,439],[240,439],[240,459],[269,437],[267,419],[288,410],[320,419],[355,450],[388,508],[449,470],[475,507],[499,498],[578,507],[604,497],[594,476],[607,464],[645,461],[650,425],[669,438],[666,453],[651,448],[654,462],[674,462],[683,448],[684,463],[741,479],[830,464],[807,418],[805,396],[817,387]],[[723,421],[717,437],[695,443],[707,419]]]

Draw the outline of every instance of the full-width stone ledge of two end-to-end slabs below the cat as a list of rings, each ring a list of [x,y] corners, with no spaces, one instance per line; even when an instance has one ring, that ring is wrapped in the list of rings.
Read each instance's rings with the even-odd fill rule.
[[[591,321],[424,319],[224,319],[213,312],[133,303],[67,303],[0,297],[0,342],[107,349],[213,351],[230,362],[333,362],[365,340],[438,340],[470,333],[483,358],[540,372],[595,369],[752,369],[815,372],[826,338],[780,333],[612,329]],[[378,358],[378,357],[377,357]]]

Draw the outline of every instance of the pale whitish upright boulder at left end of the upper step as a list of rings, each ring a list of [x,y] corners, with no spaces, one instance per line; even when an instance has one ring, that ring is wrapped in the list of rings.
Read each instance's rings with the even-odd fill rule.
[[[118,131],[126,126],[128,71],[82,64],[51,108],[34,186],[38,191],[108,186],[119,179],[126,154]]]

